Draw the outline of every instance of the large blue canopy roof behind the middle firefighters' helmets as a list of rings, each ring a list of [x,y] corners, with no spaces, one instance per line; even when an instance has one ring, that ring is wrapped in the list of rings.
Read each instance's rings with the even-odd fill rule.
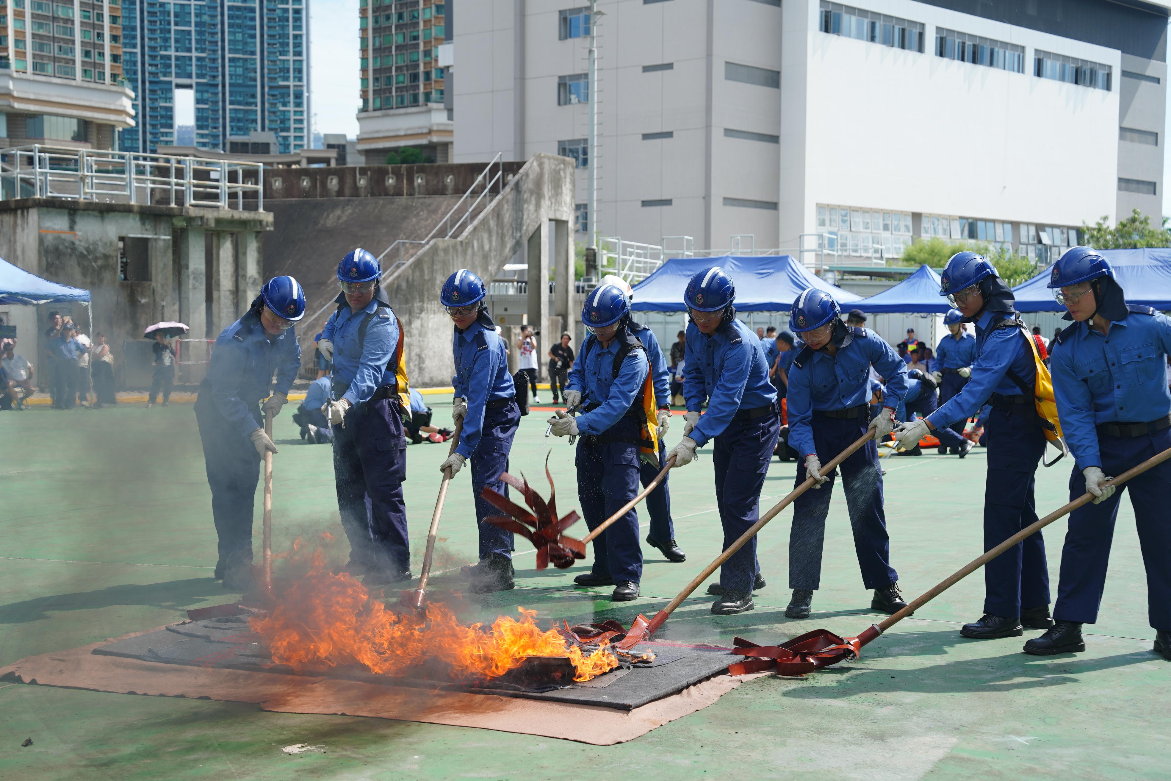
[[[834,287],[796,261],[793,255],[718,255],[671,258],[635,287],[636,311],[686,311],[683,292],[697,273],[719,266],[735,283],[737,311],[788,311],[801,292],[817,287],[840,304],[862,296]]]

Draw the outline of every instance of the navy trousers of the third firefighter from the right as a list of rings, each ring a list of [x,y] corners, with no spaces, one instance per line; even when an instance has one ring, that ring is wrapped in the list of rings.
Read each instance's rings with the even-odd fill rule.
[[[829,418],[814,412],[810,422],[813,444],[822,466],[864,434],[868,425],[870,422],[861,416]],[[816,591],[821,587],[826,516],[829,514],[829,500],[838,472],[845,485],[845,506],[850,511],[854,553],[858,557],[863,587],[877,589],[898,580],[898,573],[890,566],[890,537],[886,535],[886,514],[883,511],[878,445],[871,439],[829,474],[829,482],[821,488],[810,488],[793,502],[793,528],[789,533],[790,589]],[[804,460],[801,460],[794,485],[801,485],[807,477]]]

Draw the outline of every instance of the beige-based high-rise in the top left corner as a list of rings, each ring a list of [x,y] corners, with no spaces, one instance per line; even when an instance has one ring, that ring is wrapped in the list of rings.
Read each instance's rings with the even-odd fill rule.
[[[0,0],[0,148],[112,149],[133,124],[118,0]]]

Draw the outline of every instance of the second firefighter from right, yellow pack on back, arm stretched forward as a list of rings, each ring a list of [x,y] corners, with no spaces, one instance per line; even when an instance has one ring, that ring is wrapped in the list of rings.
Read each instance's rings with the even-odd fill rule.
[[[1012,290],[982,255],[952,255],[939,295],[949,296],[965,322],[975,323],[978,356],[959,393],[926,418],[899,426],[897,447],[911,447],[931,430],[966,420],[991,403],[984,496],[984,549],[988,550],[1036,521],[1034,477],[1046,439],[1033,398],[1033,350],[1016,320]],[[1015,637],[1023,626],[1053,625],[1040,532],[988,562],[984,575],[985,615],[965,624],[961,635]]]

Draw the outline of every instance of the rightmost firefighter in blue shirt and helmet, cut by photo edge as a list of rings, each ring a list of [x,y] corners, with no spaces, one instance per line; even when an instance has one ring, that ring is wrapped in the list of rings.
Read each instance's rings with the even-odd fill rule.
[[[1053,371],[1057,416],[1077,459],[1069,498],[1087,491],[1093,503],[1069,516],[1061,552],[1056,624],[1025,644],[1027,653],[1083,651],[1082,624],[1097,621],[1122,492],[1130,493],[1146,566],[1148,617],[1155,651],[1171,659],[1171,463],[1123,484],[1103,487],[1171,447],[1171,393],[1165,369],[1171,320],[1150,307],[1128,306],[1114,269],[1090,247],[1069,249],[1049,278],[1074,324],[1056,340]]]

